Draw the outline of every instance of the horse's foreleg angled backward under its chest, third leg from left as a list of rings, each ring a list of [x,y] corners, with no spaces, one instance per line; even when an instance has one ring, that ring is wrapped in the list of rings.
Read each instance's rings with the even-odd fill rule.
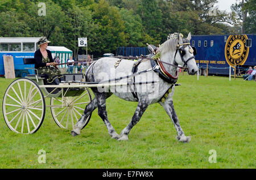
[[[131,118],[131,122],[122,130],[118,140],[128,140],[128,134],[131,131],[131,128],[139,122],[139,119],[141,119],[142,114],[145,112],[148,105],[149,103],[146,98],[138,102],[133,118]]]

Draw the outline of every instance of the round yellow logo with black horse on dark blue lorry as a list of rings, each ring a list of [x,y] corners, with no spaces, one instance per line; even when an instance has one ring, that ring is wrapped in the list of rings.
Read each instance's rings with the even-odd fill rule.
[[[246,35],[230,35],[226,41],[226,62],[232,67],[243,65],[248,57],[249,48],[245,46]]]

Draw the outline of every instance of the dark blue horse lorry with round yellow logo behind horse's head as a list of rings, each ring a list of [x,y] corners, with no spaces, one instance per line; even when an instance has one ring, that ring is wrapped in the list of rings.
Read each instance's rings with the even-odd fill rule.
[[[256,35],[193,35],[191,46],[197,49],[196,63],[201,75],[228,75],[229,67],[245,72],[255,66]]]

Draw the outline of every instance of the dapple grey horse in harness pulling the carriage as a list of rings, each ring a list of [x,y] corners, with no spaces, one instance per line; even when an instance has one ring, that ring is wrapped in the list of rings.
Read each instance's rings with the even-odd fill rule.
[[[164,68],[166,71],[172,76],[176,76],[177,73],[177,65],[187,66],[188,74],[195,74],[198,71],[196,66],[195,57],[193,56],[192,47],[189,45],[189,41],[191,40],[191,33],[189,33],[187,38],[183,38],[177,33],[176,38],[171,38],[164,42],[158,49],[158,53],[160,54],[160,59],[163,62],[168,62],[172,65],[164,64]],[[177,53],[182,49],[182,53]],[[186,60],[189,61],[186,61]],[[131,69],[133,68],[134,62],[127,59],[122,59],[119,61],[119,65],[114,67],[115,63],[118,61],[118,58],[105,57],[98,59],[96,62],[92,63],[89,66],[88,70],[86,70],[86,81],[87,82],[101,82],[102,80],[110,79],[110,78],[118,78],[122,75],[131,74]],[[142,62],[138,66],[138,72],[150,69],[151,63],[148,59],[143,59]],[[167,83],[163,79],[159,78],[158,74],[154,71],[148,71],[143,74],[139,74],[138,76],[134,76],[135,82],[141,82],[142,80],[157,80],[158,83],[152,84],[133,84],[133,87],[111,87],[111,88],[92,88],[92,91],[95,95],[92,102],[86,105],[84,110],[84,114],[73,127],[71,134],[73,136],[79,135],[81,129],[86,124],[86,119],[93,112],[94,109],[98,108],[98,115],[102,118],[106,127],[108,128],[109,135],[112,138],[117,140],[128,140],[128,134],[139,122],[142,114],[147,109],[148,105],[154,104],[158,102],[163,106],[166,113],[171,118],[172,122],[177,131],[177,140],[180,142],[189,142],[191,140],[190,136],[185,136],[182,128],[179,124],[179,119],[177,118],[177,114],[174,109],[174,102],[172,100],[172,96],[174,95],[175,85]],[[129,78],[129,80],[134,80],[133,78]],[[127,82],[127,79],[122,79],[115,81],[115,83],[119,82]],[[172,88],[171,88],[172,87]],[[165,98],[165,101],[162,102],[161,98],[164,96],[166,92],[168,92],[168,97]],[[137,92],[137,98],[134,97],[132,91]],[[120,135],[115,132],[113,126],[110,124],[108,115],[106,112],[106,98],[110,97],[112,94],[115,94],[119,98],[122,98],[127,101],[137,101],[138,106],[135,110],[133,117],[129,125],[127,125],[121,132]]]

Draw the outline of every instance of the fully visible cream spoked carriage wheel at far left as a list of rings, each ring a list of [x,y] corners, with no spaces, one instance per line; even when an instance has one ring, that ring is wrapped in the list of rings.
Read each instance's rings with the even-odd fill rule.
[[[10,130],[35,133],[44,121],[46,103],[39,86],[30,79],[14,80],[3,96],[3,118]]]

